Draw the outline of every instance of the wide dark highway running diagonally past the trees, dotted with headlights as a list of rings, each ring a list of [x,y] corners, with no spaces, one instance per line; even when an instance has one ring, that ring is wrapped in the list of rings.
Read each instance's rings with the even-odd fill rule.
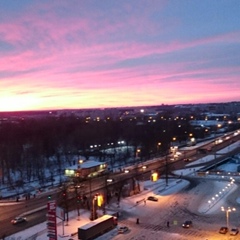
[[[232,136],[228,139],[225,139],[219,144],[215,144],[215,140],[209,141],[204,145],[204,147],[213,147],[214,146],[214,152],[227,147],[232,142],[238,141],[240,139],[240,134],[236,136]],[[202,146],[201,146],[202,147]],[[114,181],[110,184],[108,184],[109,188],[114,188],[115,185],[117,185],[121,181],[127,181],[133,177],[143,177],[145,179],[149,179],[150,174],[152,171],[161,171],[164,172],[166,168],[166,164],[168,164],[168,168],[174,168],[176,169],[182,169],[187,164],[183,161],[183,158],[191,158],[193,161],[196,159],[199,159],[206,154],[198,153],[197,148],[189,148],[189,150],[184,149],[182,151],[182,155],[175,161],[170,160],[170,156],[156,158],[154,160],[149,160],[147,162],[139,163],[134,166],[128,167],[129,170],[128,173],[120,172],[120,173],[110,173],[106,176],[101,176],[98,178],[93,178],[91,180],[85,180],[82,182],[85,186],[85,194],[87,196],[93,195],[96,192],[102,192],[104,194],[106,189],[106,180],[107,179],[113,179]],[[181,151],[181,150],[180,150]],[[239,150],[236,150],[239,151]],[[235,152],[236,152],[235,151]],[[210,154],[213,154],[214,152],[211,152]],[[231,156],[233,153],[229,152],[228,155]],[[219,158],[219,156],[216,156]],[[221,156],[221,158],[226,158],[227,156]],[[212,163],[209,163],[212,164]],[[144,170],[142,167],[146,166],[146,169]],[[58,194],[60,192],[60,189],[56,189],[56,192],[53,192],[52,199],[57,199]],[[12,204],[1,204],[1,215],[0,215],[0,222],[1,222],[1,229],[0,229],[0,237],[2,234],[11,235],[13,233],[22,231],[26,228],[29,228],[31,226],[34,226],[36,224],[39,224],[41,222],[44,222],[46,220],[46,206],[47,206],[47,195],[48,193],[45,193],[39,197],[32,198],[30,200],[21,200],[20,202],[12,202]],[[74,206],[74,204],[69,204],[69,206]],[[24,215],[27,217],[27,222],[18,224],[18,225],[12,225],[10,223],[11,219],[18,215]]]

